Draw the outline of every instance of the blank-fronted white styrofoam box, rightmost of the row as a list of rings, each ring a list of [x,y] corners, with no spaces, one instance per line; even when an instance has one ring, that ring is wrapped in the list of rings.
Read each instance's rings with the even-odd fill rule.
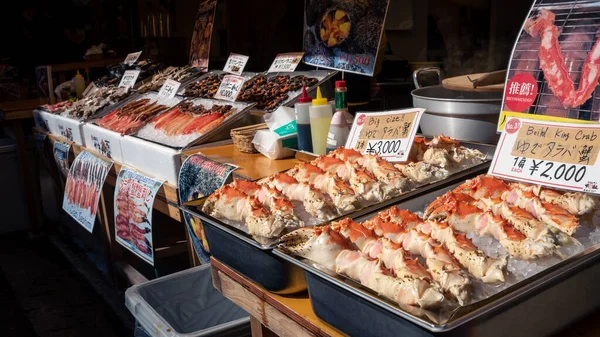
[[[163,179],[177,186],[179,169],[181,168],[181,150],[149,142],[133,136],[121,138],[123,164]]]

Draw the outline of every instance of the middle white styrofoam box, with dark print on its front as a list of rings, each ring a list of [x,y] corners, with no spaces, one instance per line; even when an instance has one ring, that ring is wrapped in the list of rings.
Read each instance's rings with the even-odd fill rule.
[[[86,123],[83,125],[83,135],[85,147],[123,163],[123,152],[121,151],[123,136],[120,133],[101,128],[96,124]]]

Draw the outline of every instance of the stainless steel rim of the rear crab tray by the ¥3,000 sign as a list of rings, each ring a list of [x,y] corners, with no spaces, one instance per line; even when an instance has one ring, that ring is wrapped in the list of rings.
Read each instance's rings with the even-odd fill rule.
[[[465,147],[472,148],[472,149],[478,149],[482,153],[486,154],[487,161],[484,163],[481,163],[479,165],[473,166],[471,168],[468,168],[466,170],[454,173],[446,179],[419,186],[416,189],[414,189],[412,191],[408,191],[406,193],[403,193],[397,197],[367,206],[361,210],[354,211],[352,213],[348,213],[348,214],[339,216],[338,218],[333,219],[331,221],[336,221],[336,220],[339,220],[342,218],[357,219],[366,214],[371,214],[377,210],[383,209],[390,205],[396,205],[400,202],[416,198],[416,197],[423,195],[425,193],[428,193],[430,191],[438,190],[440,188],[454,184],[456,182],[463,182],[467,178],[474,177],[478,174],[486,173],[490,166],[491,158],[494,155],[495,146],[487,145],[487,144],[480,144],[480,143],[469,143],[469,142],[462,142],[462,144]],[[202,219],[202,221],[209,222],[212,225],[214,225],[215,227],[217,227],[223,231],[226,231],[229,234],[236,236],[238,239],[240,239],[244,242],[247,242],[259,249],[270,250],[270,249],[273,249],[279,243],[278,238],[263,239],[260,242],[257,241],[257,239],[260,239],[260,238],[255,238],[238,228],[235,228],[231,225],[226,224],[222,220],[216,219],[216,218],[200,211],[200,209],[202,209],[203,204],[204,204],[204,200],[199,200],[199,201],[187,202],[183,206],[185,206],[187,208],[187,211],[189,213],[194,214],[198,218]]]

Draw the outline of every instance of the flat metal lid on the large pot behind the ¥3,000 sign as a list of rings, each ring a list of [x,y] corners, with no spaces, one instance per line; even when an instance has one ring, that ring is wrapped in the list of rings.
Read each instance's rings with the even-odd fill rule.
[[[502,102],[502,92],[455,91],[441,85],[415,89],[411,91],[411,95],[415,98],[440,102],[496,104]]]

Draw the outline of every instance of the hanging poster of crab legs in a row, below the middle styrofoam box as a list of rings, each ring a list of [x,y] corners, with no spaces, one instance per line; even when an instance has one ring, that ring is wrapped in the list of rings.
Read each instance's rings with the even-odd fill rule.
[[[69,170],[65,184],[63,209],[88,232],[94,230],[100,191],[112,162],[81,152]]]

